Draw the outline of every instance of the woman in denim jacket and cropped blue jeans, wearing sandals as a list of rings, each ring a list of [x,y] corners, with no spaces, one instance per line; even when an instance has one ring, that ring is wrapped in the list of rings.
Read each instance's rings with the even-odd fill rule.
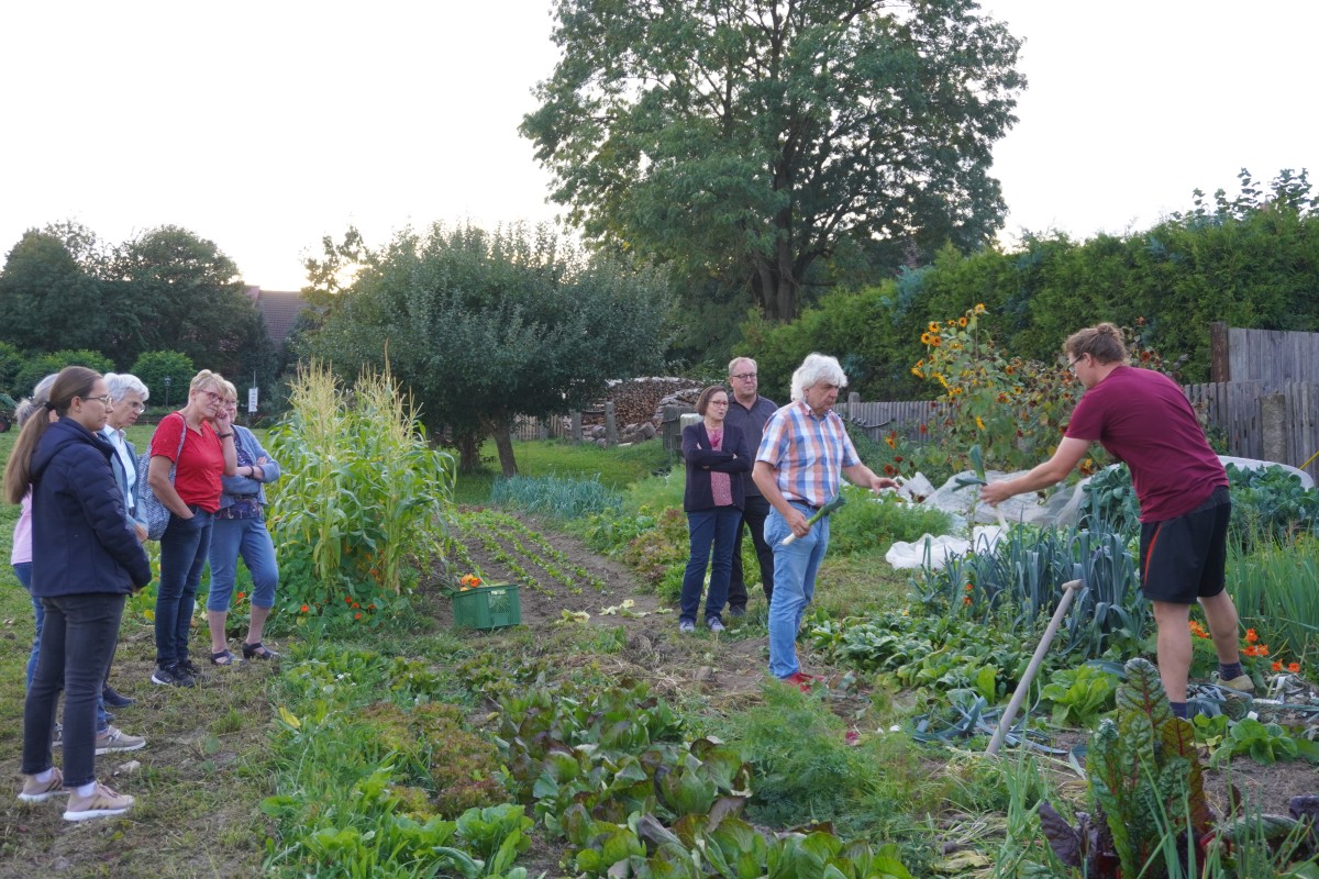
[[[232,423],[239,411],[239,393],[230,381],[224,382],[223,405]],[[211,663],[215,666],[235,663],[224,623],[228,619],[240,555],[252,573],[252,615],[247,638],[243,639],[243,658],[280,658],[261,643],[265,621],[274,606],[274,588],[280,582],[274,544],[265,528],[265,484],[280,478],[280,465],[245,427],[233,424],[233,447],[237,453],[237,473],[224,477],[220,509],[211,526],[211,594],[206,600],[206,622],[211,629]]]

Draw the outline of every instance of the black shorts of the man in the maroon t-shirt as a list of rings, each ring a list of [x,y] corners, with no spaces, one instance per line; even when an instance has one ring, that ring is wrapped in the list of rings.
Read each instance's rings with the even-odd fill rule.
[[[1223,592],[1232,498],[1227,486],[1186,515],[1141,525],[1141,593],[1194,605]]]

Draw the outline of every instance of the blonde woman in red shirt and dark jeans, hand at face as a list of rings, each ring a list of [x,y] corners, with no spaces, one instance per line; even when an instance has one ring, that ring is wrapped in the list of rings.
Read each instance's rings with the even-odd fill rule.
[[[152,683],[193,687],[200,669],[187,656],[197,588],[220,509],[220,477],[237,473],[233,420],[224,409],[224,378],[197,373],[187,405],[170,412],[152,435],[146,481],[170,511],[161,535],[161,579],[156,596],[156,672]]]

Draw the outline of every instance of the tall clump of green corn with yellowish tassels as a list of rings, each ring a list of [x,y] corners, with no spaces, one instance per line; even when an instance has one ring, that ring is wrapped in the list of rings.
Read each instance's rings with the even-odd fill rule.
[[[270,431],[284,468],[270,528],[295,611],[356,618],[404,596],[443,557],[452,459],[430,447],[388,366],[348,393],[327,366],[298,370],[290,416]]]

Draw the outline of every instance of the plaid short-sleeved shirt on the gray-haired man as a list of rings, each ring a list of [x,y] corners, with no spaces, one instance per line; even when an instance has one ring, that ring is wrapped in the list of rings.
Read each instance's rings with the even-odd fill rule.
[[[811,506],[832,501],[843,468],[861,463],[843,419],[834,410],[819,416],[799,399],[783,406],[765,423],[756,460],[777,469],[783,498]]]

